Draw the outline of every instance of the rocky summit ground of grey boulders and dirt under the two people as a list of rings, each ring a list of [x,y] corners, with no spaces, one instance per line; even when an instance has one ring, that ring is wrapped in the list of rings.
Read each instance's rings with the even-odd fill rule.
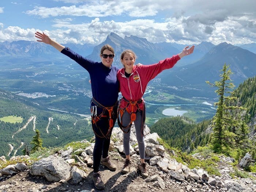
[[[148,177],[140,176],[137,166],[139,162],[139,150],[136,145],[136,133],[131,129],[131,167],[127,174],[121,173],[125,155],[123,148],[123,132],[114,128],[110,143],[109,157],[117,166],[115,171],[101,165],[100,172],[107,192],[256,192],[256,173],[250,173],[252,178],[232,178],[233,171],[230,163],[232,158],[219,156],[221,163],[216,167],[221,176],[209,175],[200,167],[189,169],[186,165],[177,162],[168,154],[165,148],[158,142],[158,134],[150,133],[146,127],[146,169]],[[0,170],[1,192],[90,192],[99,191],[94,187],[93,174],[93,147],[94,143],[87,143],[85,149],[59,150],[56,154],[38,159],[32,165],[25,162],[8,165]],[[242,161],[246,164],[249,154]],[[200,155],[195,154],[195,158]],[[10,160],[26,159],[29,156],[12,157]],[[0,161],[6,161],[1,157]]]

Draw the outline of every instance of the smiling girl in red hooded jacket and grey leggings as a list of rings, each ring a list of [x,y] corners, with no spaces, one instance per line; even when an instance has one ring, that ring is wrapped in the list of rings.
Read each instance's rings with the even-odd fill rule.
[[[145,144],[144,144],[144,123],[145,123],[145,103],[142,98],[148,82],[155,78],[164,69],[169,69],[177,63],[182,57],[193,53],[194,46],[191,48],[185,47],[181,53],[159,61],[153,65],[134,65],[136,55],[132,50],[125,50],[121,53],[120,59],[124,65],[123,69],[117,72],[117,79],[120,83],[120,91],[123,98],[119,102],[118,125],[123,130],[123,144],[126,159],[122,168],[123,173],[128,173],[131,166],[130,160],[130,129],[132,122],[135,125],[136,138],[139,146],[140,162],[138,169],[142,177],[148,177],[146,170],[145,158]]]

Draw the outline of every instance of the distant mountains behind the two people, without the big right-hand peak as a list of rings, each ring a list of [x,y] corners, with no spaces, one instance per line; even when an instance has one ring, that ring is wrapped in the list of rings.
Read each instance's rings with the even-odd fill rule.
[[[125,49],[133,50],[137,55],[137,62],[142,64],[153,64],[159,60],[170,57],[174,54],[180,53],[185,46],[192,45],[181,45],[176,43],[151,43],[147,41],[146,38],[139,38],[134,35],[125,36],[124,38],[118,36],[115,33],[110,33],[106,40],[97,46],[91,44],[63,44],[66,47],[71,48],[79,54],[99,61],[99,52],[102,45],[109,44],[113,46],[116,57],[114,59],[114,65],[120,66],[119,56],[121,52]],[[230,45],[230,44],[229,44]],[[200,59],[210,51],[215,45],[210,42],[202,42],[199,45],[195,45],[194,53],[185,57],[180,61],[180,65],[192,64]],[[218,46],[218,45],[217,45]],[[230,45],[232,46],[232,45]],[[245,44],[240,45],[240,48],[247,49],[253,53],[256,52],[256,44]],[[58,54],[58,51],[52,46],[40,43],[37,41],[13,41],[13,42],[0,42],[0,57],[7,59],[8,57],[12,58],[44,58],[45,60],[56,60],[65,58],[64,55]]]

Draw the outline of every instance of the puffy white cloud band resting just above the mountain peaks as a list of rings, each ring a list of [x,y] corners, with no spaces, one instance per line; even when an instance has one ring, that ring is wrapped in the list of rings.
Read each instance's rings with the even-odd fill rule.
[[[180,44],[199,44],[209,41],[213,44],[227,42],[246,44],[256,42],[255,21],[248,17],[227,17],[223,21],[203,24],[191,17],[169,18],[163,22],[152,19],[136,19],[128,22],[101,21],[99,18],[90,23],[72,24],[71,18],[54,19],[56,30],[46,31],[50,37],[60,43],[95,44],[103,42],[111,32],[124,38],[135,35],[147,38],[150,42],[176,42]],[[20,27],[3,28],[0,25],[0,41],[35,41],[35,29]]]

